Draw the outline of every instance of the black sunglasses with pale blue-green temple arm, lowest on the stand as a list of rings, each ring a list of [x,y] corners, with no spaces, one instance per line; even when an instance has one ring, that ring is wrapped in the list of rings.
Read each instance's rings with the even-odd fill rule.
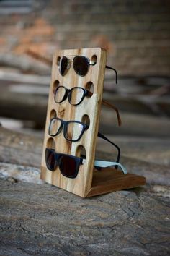
[[[55,169],[58,167],[63,176],[74,179],[79,173],[80,165],[84,164],[86,159],[79,158],[73,155],[56,153],[55,150],[51,148],[46,148],[45,161],[48,170],[55,171]],[[97,169],[106,168],[109,166],[119,166],[122,173],[127,174],[125,167],[122,166],[120,163],[100,160],[94,161],[94,167],[96,167]]]

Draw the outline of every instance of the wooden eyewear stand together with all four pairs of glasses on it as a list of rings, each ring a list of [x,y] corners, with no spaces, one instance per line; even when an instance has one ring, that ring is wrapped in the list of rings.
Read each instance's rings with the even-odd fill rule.
[[[120,148],[99,132],[102,106],[112,108],[110,119],[116,114],[121,124],[117,108],[102,99],[106,69],[117,83],[117,72],[106,61],[101,48],[58,50],[53,56],[41,179],[81,197],[143,183],[127,174]],[[108,142],[109,161],[96,156],[97,138]]]

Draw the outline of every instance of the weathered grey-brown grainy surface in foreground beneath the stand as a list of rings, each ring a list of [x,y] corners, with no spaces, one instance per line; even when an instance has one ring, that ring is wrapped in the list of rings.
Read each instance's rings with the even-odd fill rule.
[[[132,189],[81,199],[0,180],[1,255],[169,255],[169,200]]]

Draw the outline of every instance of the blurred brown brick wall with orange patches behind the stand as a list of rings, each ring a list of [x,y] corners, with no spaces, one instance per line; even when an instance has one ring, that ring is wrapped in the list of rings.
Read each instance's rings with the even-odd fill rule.
[[[169,75],[169,0],[35,2],[35,12],[1,15],[0,53],[99,46],[119,74]]]

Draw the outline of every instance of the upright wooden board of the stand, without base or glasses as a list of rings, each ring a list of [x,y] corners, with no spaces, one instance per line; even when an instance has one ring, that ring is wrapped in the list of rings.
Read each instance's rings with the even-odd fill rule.
[[[68,56],[72,58],[76,55],[86,56],[91,61],[97,59],[97,63],[89,67],[89,71],[84,77],[76,74],[73,66],[68,69],[68,72],[64,76],[61,76],[58,71],[58,57]],[[107,52],[101,48],[61,50],[56,51],[53,56],[52,79],[48,98],[48,111],[42,152],[41,179],[57,187],[73,192],[76,195],[80,195],[81,197],[85,197],[91,189],[106,59]],[[88,82],[93,83],[94,93],[90,98],[84,98],[84,101],[79,106],[71,106],[71,104],[68,103],[68,99],[61,104],[55,103],[53,93],[55,85],[64,85],[68,89],[75,86],[86,88]],[[88,115],[90,119],[89,129],[84,132],[79,142],[68,142],[63,137],[63,131],[57,137],[51,138],[48,135],[48,127],[50,119],[54,114],[65,121],[84,121],[83,116]],[[79,174],[75,179],[66,178],[61,174],[58,168],[53,172],[46,168],[45,148],[50,148],[52,142],[55,142],[56,152],[71,155],[79,155],[78,147],[81,145],[84,146],[86,150],[86,163],[81,165]]]

